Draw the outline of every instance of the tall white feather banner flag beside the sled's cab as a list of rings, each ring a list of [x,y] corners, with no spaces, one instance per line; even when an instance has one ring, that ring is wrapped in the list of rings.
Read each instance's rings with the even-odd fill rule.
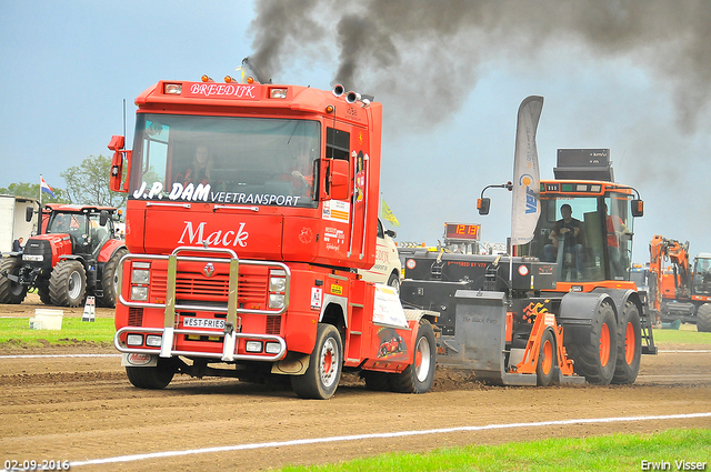
[[[535,130],[543,109],[543,97],[528,97],[519,107],[513,158],[513,205],[511,210],[511,244],[525,244],[533,239],[538,217],[540,173]]]

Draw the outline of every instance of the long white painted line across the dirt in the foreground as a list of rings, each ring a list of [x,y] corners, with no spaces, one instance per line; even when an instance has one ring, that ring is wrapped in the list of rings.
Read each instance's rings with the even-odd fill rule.
[[[685,420],[685,419],[692,419],[692,418],[711,418],[711,412],[668,414],[668,415],[658,415],[658,416],[583,418],[578,420],[541,421],[539,423],[488,424],[485,426],[460,426],[460,428],[443,428],[443,429],[423,430],[423,431],[394,431],[390,433],[312,438],[312,439],[300,439],[300,440],[291,440],[291,441],[276,441],[276,442],[261,442],[261,443],[253,443],[253,444],[224,445],[224,446],[218,446],[218,448],[190,449],[186,451],[164,451],[164,452],[151,452],[148,454],[119,455],[116,458],[92,459],[89,461],[70,462],[69,466],[77,468],[80,465],[112,464],[118,462],[144,461],[149,459],[176,458],[180,455],[210,454],[213,452],[248,451],[253,449],[284,448],[290,445],[319,444],[319,443],[338,442],[338,441],[360,441],[360,440],[370,440],[370,439],[403,438],[403,436],[414,436],[414,435],[424,435],[424,434],[443,434],[443,433],[455,433],[455,432],[462,432],[462,431],[558,426],[558,425],[568,425],[568,424],[619,423],[619,422],[652,421],[652,420],[657,420],[657,421]]]

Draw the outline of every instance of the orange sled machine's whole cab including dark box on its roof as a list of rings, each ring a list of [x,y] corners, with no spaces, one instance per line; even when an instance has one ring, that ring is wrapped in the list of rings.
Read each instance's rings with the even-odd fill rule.
[[[559,149],[553,172],[540,182],[538,225],[520,255],[555,262],[557,282],[629,281],[643,205],[637,190],[614,182],[610,150]]]

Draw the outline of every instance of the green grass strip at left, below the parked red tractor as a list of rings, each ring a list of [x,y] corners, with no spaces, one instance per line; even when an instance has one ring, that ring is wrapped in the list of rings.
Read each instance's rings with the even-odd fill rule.
[[[32,330],[29,318],[0,318],[0,345],[74,344],[82,341],[110,345],[113,333],[116,328],[111,318],[97,318],[97,321],[64,318],[61,330]]]

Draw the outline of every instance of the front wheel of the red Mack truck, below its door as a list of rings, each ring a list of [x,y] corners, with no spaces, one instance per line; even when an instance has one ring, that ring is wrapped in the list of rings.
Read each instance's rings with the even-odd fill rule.
[[[332,324],[319,323],[309,368],[303,374],[291,376],[291,388],[300,399],[328,400],[338,388],[342,366],[341,335]]]

